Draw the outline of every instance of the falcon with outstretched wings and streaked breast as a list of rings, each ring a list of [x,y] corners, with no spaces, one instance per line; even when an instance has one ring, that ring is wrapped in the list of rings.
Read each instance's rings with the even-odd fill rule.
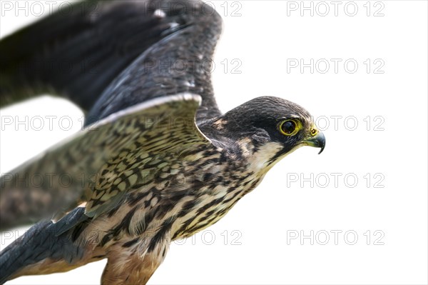
[[[171,241],[215,224],[301,146],[301,106],[260,96],[225,112],[210,69],[222,29],[203,1],[83,1],[0,41],[0,106],[49,92],[85,128],[0,178],[0,284],[107,259],[101,284],[146,284]],[[39,187],[29,178],[44,177]],[[55,177],[67,175],[66,186]]]

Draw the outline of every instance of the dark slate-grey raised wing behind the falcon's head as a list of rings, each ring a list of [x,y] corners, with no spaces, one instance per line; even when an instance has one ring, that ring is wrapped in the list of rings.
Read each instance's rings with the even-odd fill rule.
[[[42,93],[71,99],[92,124],[128,106],[190,92],[219,113],[210,74],[221,32],[194,0],[82,1],[0,41],[0,106]],[[130,74],[133,74],[130,76]]]

